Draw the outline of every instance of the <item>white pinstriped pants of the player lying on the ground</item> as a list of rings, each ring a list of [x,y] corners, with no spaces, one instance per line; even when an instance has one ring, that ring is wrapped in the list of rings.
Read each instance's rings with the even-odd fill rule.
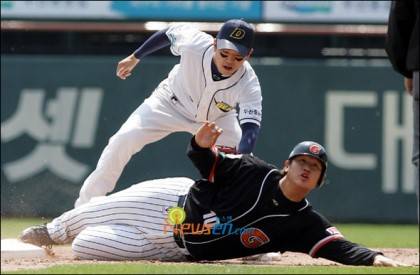
[[[91,200],[47,224],[51,238],[72,243],[79,259],[183,261],[167,210],[194,183],[189,178],[144,181]]]

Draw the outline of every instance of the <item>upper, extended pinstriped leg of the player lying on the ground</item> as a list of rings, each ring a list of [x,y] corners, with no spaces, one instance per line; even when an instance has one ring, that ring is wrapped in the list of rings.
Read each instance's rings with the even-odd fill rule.
[[[71,242],[88,226],[127,224],[144,232],[165,230],[167,210],[177,206],[179,196],[194,183],[189,178],[166,178],[144,181],[106,197],[65,212],[47,224],[51,239],[58,244]]]

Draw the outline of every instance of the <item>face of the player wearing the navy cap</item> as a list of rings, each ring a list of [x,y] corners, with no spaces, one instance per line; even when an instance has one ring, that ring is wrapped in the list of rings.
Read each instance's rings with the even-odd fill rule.
[[[243,57],[239,52],[231,49],[217,49],[214,54],[214,63],[223,76],[233,75],[249,56]]]

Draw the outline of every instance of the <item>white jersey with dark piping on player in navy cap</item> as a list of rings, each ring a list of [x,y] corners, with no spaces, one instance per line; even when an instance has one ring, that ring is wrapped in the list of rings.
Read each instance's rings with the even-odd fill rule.
[[[260,125],[262,117],[261,87],[254,70],[245,61],[231,77],[214,81],[211,60],[214,38],[187,24],[173,24],[166,35],[171,51],[181,56],[179,64],[163,82],[169,86],[186,114],[194,121],[215,121],[239,106],[239,123]]]

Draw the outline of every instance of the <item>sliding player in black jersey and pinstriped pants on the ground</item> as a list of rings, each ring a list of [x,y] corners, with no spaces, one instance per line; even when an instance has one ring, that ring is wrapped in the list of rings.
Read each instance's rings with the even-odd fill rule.
[[[214,146],[222,129],[203,124],[188,156],[203,179],[146,181],[92,200],[23,231],[36,245],[71,242],[80,259],[222,260],[276,251],[348,265],[401,263],[346,240],[306,196],[324,183],[327,154],[297,144],[280,171],[252,155]]]

